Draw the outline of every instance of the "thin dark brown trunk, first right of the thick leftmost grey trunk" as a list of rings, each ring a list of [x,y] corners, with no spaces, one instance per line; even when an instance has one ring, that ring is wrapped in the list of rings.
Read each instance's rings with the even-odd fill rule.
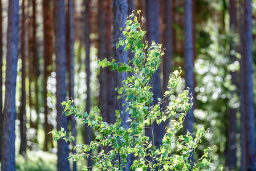
[[[21,146],[19,153],[26,156],[27,148],[27,129],[26,129],[26,45],[25,45],[25,0],[22,0],[22,28],[21,28],[21,59],[22,59],[22,80],[21,80],[21,107],[19,109],[19,129],[21,131]]]

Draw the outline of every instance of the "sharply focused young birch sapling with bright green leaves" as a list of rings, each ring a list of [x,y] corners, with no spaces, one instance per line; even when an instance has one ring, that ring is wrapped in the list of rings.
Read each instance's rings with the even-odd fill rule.
[[[139,12],[138,12],[139,13]],[[123,30],[125,39],[120,39],[117,44],[123,46],[127,51],[130,48],[134,53],[134,58],[129,60],[128,64],[116,63],[115,59],[98,61],[99,66],[110,66],[111,70],[119,72],[129,72],[127,79],[123,80],[122,86],[116,88],[119,95],[117,99],[125,98],[126,111],[129,113],[129,127],[122,127],[122,112],[115,111],[116,123],[108,124],[103,121],[100,109],[93,107],[90,113],[79,111],[71,100],[63,101],[64,113],[66,116],[74,114],[82,120],[82,123],[88,124],[94,129],[96,138],[90,144],[78,144],[74,149],[78,153],[68,157],[74,161],[88,158],[91,150],[100,148],[97,156],[91,156],[94,161],[95,170],[123,170],[127,163],[128,155],[134,155],[135,160],[131,165],[131,170],[141,168],[142,170],[199,170],[208,166],[209,150],[204,150],[204,155],[197,162],[191,163],[190,157],[194,149],[201,143],[201,137],[207,132],[200,128],[193,135],[189,132],[186,135],[177,137],[177,132],[182,128],[182,123],[186,113],[192,107],[192,97],[188,96],[188,90],[180,93],[177,99],[171,100],[170,105],[165,111],[160,104],[165,98],[173,94],[174,88],[180,83],[181,71],[174,71],[169,80],[169,91],[164,93],[162,99],[158,99],[157,104],[153,103],[152,93],[152,74],[160,66],[160,57],[162,52],[161,44],[147,41],[143,42],[145,31],[141,30],[138,18],[134,14],[129,15],[126,27]],[[160,148],[154,145],[154,140],[145,136],[144,128],[150,127],[152,137],[153,123],[160,124],[162,121],[170,120],[170,126],[166,127],[166,133],[162,139]],[[68,137],[64,129],[52,131],[54,140],[64,139],[66,141],[74,140],[74,137]],[[88,170],[83,166],[83,170]]]

